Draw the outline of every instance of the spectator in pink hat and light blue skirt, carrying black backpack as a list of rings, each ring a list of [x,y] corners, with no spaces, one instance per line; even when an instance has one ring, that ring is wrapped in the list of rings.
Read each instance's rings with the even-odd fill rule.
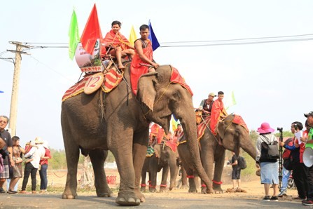
[[[264,184],[265,197],[263,201],[278,201],[278,162],[277,159],[269,159],[264,144],[273,144],[277,142],[273,134],[274,129],[270,127],[269,123],[262,123],[258,128],[258,140],[256,141],[256,168],[260,168],[261,184]],[[277,147],[278,151],[278,147]],[[270,198],[270,185],[273,185],[273,196]]]

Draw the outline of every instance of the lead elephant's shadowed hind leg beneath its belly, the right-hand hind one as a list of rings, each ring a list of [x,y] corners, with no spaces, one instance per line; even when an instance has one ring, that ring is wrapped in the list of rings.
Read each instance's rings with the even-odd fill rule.
[[[95,187],[97,196],[113,196],[113,192],[109,188],[108,182],[106,181],[106,173],[104,170],[104,161],[106,160],[106,156],[108,156],[108,151],[94,149],[90,151],[89,156],[92,163],[92,168],[95,173]]]

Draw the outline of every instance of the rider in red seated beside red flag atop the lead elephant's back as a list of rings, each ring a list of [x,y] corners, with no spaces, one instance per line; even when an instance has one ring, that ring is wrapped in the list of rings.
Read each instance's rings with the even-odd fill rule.
[[[120,34],[120,21],[113,21],[112,29],[106,34],[103,39],[106,50],[109,50],[110,55],[115,56],[118,60],[118,69],[124,69],[122,57],[129,56],[131,59],[134,56],[134,46],[128,41],[125,36]]]

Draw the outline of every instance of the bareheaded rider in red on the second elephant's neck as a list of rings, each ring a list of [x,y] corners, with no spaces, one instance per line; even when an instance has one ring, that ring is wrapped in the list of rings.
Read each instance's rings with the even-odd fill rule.
[[[218,91],[217,93],[217,100],[213,102],[212,109],[211,109],[211,122],[210,122],[210,128],[211,133],[216,135],[215,128],[218,123],[218,121],[222,118],[225,118],[227,116],[227,112],[224,107],[223,98],[224,93],[223,91]]]

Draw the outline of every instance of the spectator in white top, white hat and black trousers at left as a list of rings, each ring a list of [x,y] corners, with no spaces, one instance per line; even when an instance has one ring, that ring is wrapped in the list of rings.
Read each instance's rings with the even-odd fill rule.
[[[36,173],[39,168],[39,161],[41,157],[45,156],[45,149],[42,144],[43,141],[40,137],[36,137],[35,139],[36,148],[33,146],[32,149],[29,150],[27,154],[25,154],[25,158],[32,156],[32,161],[25,164],[25,174],[22,184],[21,194],[26,194],[26,186],[28,182],[29,175],[32,177],[32,194],[36,194]]]

